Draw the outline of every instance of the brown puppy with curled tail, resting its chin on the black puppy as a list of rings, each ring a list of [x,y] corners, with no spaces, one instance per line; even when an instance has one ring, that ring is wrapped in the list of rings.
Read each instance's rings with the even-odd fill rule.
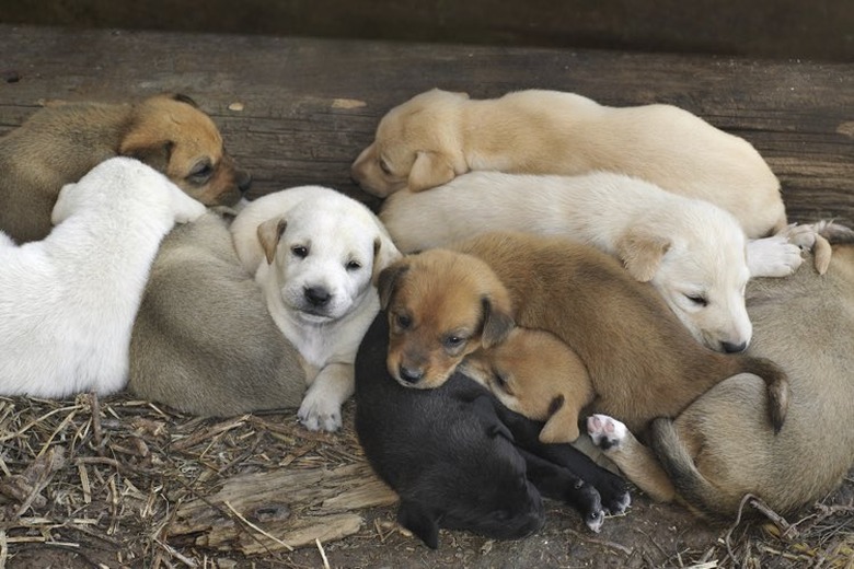
[[[769,429],[783,426],[788,383],[782,370],[701,346],[655,290],[614,258],[524,233],[489,233],[453,248],[406,256],[380,276],[391,325],[388,368],[401,384],[440,385],[465,356],[499,345],[516,322],[567,344],[590,375],[592,408],[634,430],[674,417],[741,372],[763,378]]]

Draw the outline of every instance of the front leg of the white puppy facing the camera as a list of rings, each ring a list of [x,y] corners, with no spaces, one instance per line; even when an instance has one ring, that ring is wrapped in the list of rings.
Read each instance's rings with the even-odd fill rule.
[[[354,390],[353,364],[330,363],[309,386],[297,417],[310,431],[337,431],[342,426],[341,406]]]

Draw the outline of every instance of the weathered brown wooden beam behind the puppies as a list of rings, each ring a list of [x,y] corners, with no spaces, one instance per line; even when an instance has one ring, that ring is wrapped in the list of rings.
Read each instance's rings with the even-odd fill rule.
[[[0,88],[0,132],[44,101],[181,91],[215,116],[253,195],[312,183],[373,204],[349,164],[390,107],[434,86],[543,88],[682,106],[757,147],[793,220],[854,223],[854,63],[26,26],[0,26],[0,50],[21,78]]]

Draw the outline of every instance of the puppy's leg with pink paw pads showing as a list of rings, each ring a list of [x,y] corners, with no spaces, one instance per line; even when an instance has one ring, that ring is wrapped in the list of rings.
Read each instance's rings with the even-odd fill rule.
[[[616,464],[638,488],[660,502],[676,498],[676,488],[653,452],[625,425],[607,415],[591,415],[587,432],[593,444]]]

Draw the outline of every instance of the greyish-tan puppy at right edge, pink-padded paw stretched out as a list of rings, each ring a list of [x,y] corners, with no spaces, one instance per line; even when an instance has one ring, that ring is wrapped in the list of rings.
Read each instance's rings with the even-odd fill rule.
[[[719,383],[674,420],[654,421],[649,448],[615,419],[588,419],[605,455],[657,500],[730,516],[750,493],[787,514],[821,500],[854,464],[854,246],[834,246],[823,277],[801,269],[751,281],[748,310],[755,323],[749,351],[773,358],[792,382],[778,434],[760,420],[763,385],[750,375]]]

